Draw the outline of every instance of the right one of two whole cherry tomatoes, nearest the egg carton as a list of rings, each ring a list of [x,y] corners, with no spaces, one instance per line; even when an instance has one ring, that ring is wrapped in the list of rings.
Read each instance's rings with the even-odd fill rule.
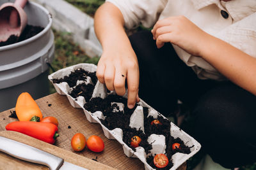
[[[104,150],[104,142],[99,136],[90,136],[87,139],[87,148],[93,152],[102,152]]]

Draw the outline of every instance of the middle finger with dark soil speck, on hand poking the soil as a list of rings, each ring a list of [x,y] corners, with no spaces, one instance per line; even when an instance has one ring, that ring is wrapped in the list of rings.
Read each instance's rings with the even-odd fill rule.
[[[125,80],[126,80],[127,71],[117,67],[115,69],[115,80],[114,88],[116,94],[123,96],[125,94]]]

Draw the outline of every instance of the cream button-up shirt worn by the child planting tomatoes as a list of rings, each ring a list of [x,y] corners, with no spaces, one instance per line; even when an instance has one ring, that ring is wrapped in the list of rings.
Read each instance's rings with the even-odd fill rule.
[[[153,27],[157,20],[184,15],[208,34],[256,57],[256,0],[228,2],[220,0],[106,1],[115,4],[120,9],[127,29],[133,29],[139,24]],[[221,10],[228,13],[228,18],[221,15]],[[225,80],[223,75],[201,57],[192,56],[179,46],[173,45],[173,47],[180,59],[192,67],[198,78]]]

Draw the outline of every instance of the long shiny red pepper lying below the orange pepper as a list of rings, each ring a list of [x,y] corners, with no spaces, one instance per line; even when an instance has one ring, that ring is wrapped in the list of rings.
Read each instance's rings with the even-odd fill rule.
[[[51,144],[54,144],[59,136],[58,127],[45,122],[12,122],[6,125],[5,129],[20,132]]]

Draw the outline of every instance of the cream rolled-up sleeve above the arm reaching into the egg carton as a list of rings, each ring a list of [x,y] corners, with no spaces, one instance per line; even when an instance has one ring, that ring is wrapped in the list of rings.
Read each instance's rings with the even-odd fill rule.
[[[124,17],[125,27],[133,29],[140,23],[152,27],[168,0],[106,0],[113,3]]]

